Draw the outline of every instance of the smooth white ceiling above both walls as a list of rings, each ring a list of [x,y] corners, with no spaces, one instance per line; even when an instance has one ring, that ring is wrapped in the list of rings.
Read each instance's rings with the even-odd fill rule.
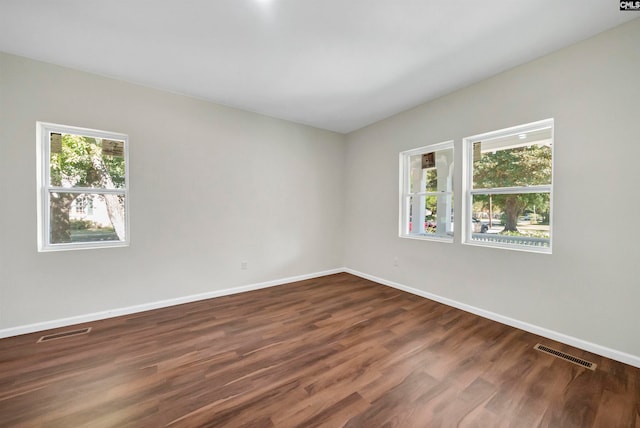
[[[0,0],[0,50],[350,132],[636,17],[610,0]]]

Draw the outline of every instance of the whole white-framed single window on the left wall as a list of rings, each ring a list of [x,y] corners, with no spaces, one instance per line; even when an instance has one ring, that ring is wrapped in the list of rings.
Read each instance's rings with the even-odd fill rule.
[[[127,136],[42,122],[37,133],[38,250],[128,245]]]

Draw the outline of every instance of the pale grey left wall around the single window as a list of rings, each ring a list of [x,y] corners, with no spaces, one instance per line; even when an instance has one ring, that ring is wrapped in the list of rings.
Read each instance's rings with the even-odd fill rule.
[[[129,135],[130,247],[37,252],[38,120]],[[0,330],[342,266],[343,135],[0,54],[0,143]]]

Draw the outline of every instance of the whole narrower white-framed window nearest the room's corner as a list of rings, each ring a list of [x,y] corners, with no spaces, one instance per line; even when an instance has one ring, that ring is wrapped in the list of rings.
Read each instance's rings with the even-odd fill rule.
[[[453,242],[453,141],[400,153],[400,236]]]

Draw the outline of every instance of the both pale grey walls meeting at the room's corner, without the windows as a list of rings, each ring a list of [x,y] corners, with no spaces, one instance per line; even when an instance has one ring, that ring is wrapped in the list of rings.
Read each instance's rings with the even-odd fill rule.
[[[346,137],[0,54],[0,330],[346,266],[640,361],[638,40],[635,20]],[[400,151],[453,139],[459,166],[465,136],[546,118],[552,255],[398,238]],[[129,248],[36,251],[37,120],[129,134]]]

